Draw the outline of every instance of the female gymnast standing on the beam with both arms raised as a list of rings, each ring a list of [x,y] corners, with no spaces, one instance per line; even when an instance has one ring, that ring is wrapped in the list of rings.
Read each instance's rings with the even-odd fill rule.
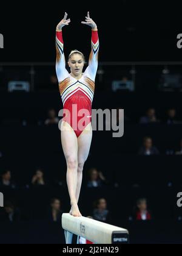
[[[86,16],[86,24],[92,28],[91,52],[89,65],[83,73],[85,58],[82,52],[74,50],[70,52],[68,65],[70,73],[66,69],[66,61],[63,52],[62,27],[68,26],[67,13],[56,27],[56,74],[59,82],[59,91],[64,110],[69,110],[69,115],[62,118],[61,144],[67,163],[67,187],[70,196],[70,215],[82,216],[78,208],[79,193],[83,178],[83,167],[87,160],[92,141],[92,101],[95,88],[95,76],[98,68],[98,30],[96,23],[90,18],[89,12]],[[76,108],[73,108],[76,105]],[[83,116],[78,116],[79,110],[87,110],[89,115],[82,127],[78,126]],[[70,118],[68,118],[68,116]],[[76,116],[75,122],[72,120]],[[69,129],[65,129],[65,127]]]

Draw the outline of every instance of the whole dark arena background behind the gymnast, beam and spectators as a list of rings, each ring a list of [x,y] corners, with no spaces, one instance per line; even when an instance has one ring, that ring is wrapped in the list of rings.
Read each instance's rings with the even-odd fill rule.
[[[177,193],[182,190],[180,140],[182,138],[182,49],[177,48],[181,29],[178,2],[120,1],[14,2],[1,6],[0,33],[0,172],[10,170],[13,187],[0,188],[5,201],[21,212],[18,221],[0,215],[0,243],[64,243],[61,224],[45,213],[58,197],[61,210],[69,211],[66,162],[58,125],[45,126],[49,108],[62,108],[55,76],[55,27],[66,11],[72,20],[63,29],[64,53],[90,52],[90,29],[79,24],[87,11],[98,25],[100,50],[93,108],[124,108],[124,136],[93,132],[84,166],[79,208],[92,215],[93,202],[107,200],[111,224],[125,227],[131,243],[181,243],[182,212]],[[113,81],[127,77],[134,90],[113,90]],[[10,81],[29,82],[29,92],[8,90]],[[140,124],[148,108],[155,108],[158,123]],[[166,112],[175,108],[177,123],[166,123]],[[139,155],[149,136],[159,155]],[[87,187],[87,171],[103,172],[107,184]],[[32,187],[36,169],[44,171],[47,185]],[[145,197],[150,221],[132,218],[136,200]]]

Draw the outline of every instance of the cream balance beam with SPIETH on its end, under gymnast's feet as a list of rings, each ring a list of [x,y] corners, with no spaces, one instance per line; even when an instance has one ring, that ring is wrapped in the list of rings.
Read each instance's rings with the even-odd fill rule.
[[[128,230],[83,216],[74,217],[69,213],[62,213],[62,229],[67,244],[72,243],[73,234],[96,244],[129,243]]]

